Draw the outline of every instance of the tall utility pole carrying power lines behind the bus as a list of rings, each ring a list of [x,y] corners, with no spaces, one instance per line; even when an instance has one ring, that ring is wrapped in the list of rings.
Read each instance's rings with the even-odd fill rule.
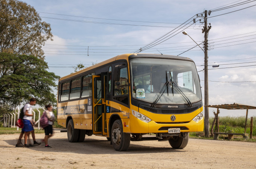
[[[209,92],[208,92],[208,32],[211,26],[207,28],[207,10],[204,11],[204,106],[209,105]],[[209,107],[204,107],[204,136],[210,137],[209,134]]]

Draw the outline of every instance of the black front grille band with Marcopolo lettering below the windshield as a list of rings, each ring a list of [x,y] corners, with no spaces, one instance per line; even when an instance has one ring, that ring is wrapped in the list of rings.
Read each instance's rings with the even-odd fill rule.
[[[156,114],[166,114],[166,115],[176,114],[177,115],[177,114],[186,114],[186,113],[194,112],[195,110],[200,109],[201,105],[199,104],[197,106],[186,108],[186,109],[184,108],[183,109],[172,109],[172,108],[163,109],[163,108],[154,108],[154,107],[144,106],[140,104],[139,108],[151,113],[156,113]]]

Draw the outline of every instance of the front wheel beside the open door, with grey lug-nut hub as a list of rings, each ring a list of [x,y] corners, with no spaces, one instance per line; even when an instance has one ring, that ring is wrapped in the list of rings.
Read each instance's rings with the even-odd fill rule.
[[[130,146],[131,134],[123,133],[121,120],[114,121],[111,128],[111,141],[116,151],[126,151]]]

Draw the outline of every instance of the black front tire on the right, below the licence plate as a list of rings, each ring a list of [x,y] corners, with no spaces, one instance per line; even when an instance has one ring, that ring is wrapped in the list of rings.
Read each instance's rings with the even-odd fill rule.
[[[172,148],[182,149],[187,146],[187,143],[189,142],[189,133],[184,132],[183,134],[185,134],[185,138],[174,136],[168,140]]]

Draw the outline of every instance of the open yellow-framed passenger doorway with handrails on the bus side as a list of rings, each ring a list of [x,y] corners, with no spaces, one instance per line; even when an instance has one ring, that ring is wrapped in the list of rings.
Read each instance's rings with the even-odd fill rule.
[[[93,134],[102,134],[102,84],[101,76],[93,75]],[[104,91],[104,89],[103,89]]]

